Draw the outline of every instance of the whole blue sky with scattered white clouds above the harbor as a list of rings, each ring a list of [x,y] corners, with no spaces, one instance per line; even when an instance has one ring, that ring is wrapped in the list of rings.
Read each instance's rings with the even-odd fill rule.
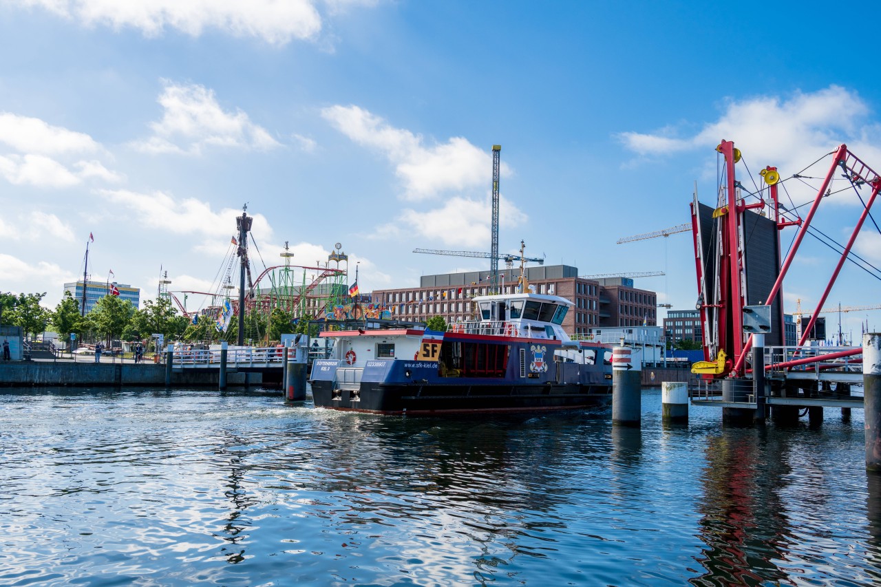
[[[692,308],[690,234],[615,241],[689,221],[694,182],[711,203],[720,139],[757,180],[842,142],[881,168],[877,48],[823,4],[7,0],[0,48],[0,289],[50,306],[90,232],[94,279],[211,289],[244,202],[266,264],[340,241],[362,291],[483,269],[410,251],[490,249],[500,144],[503,251],[665,271],[637,286]],[[830,200],[818,227],[844,241],[859,212]],[[789,311],[822,293],[824,249],[803,246]],[[857,249],[881,266],[871,222]],[[827,305],[878,291],[848,264]]]

